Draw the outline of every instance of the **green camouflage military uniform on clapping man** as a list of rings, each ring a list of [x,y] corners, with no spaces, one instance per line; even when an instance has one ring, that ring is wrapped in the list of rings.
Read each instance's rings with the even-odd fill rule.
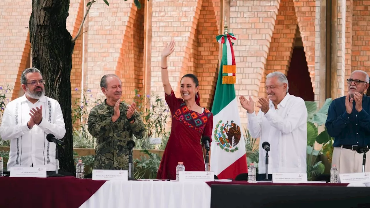
[[[137,138],[144,136],[144,123],[137,111],[132,115],[135,122],[132,124],[128,122],[128,105],[124,102],[120,104],[120,117],[113,123],[114,109],[105,101],[91,109],[87,121],[88,131],[97,138],[94,169],[128,170],[126,143],[132,139],[132,134]]]

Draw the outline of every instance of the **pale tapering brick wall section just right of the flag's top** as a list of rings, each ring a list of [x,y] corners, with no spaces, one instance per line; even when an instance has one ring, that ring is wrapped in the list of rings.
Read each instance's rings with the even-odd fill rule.
[[[230,2],[229,28],[238,38],[234,41],[238,97],[251,95],[253,100],[257,100],[279,4],[278,0]],[[240,104],[239,112],[241,122],[245,124],[246,111]]]

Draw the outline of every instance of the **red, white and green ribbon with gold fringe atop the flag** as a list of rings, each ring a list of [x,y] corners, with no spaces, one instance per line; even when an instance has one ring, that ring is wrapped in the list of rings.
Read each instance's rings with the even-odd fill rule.
[[[222,84],[236,83],[236,64],[231,39],[236,40],[232,33],[227,35],[219,35],[216,37],[217,42],[223,44],[222,46]]]

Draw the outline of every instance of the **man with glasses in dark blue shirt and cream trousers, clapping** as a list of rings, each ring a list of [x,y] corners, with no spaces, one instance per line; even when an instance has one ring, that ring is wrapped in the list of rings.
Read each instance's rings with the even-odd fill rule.
[[[364,94],[369,87],[369,75],[361,70],[347,79],[348,93],[329,106],[326,129],[334,137],[332,165],[339,174],[362,172],[363,154],[357,153],[370,145],[370,97]],[[370,172],[370,159],[365,172]]]

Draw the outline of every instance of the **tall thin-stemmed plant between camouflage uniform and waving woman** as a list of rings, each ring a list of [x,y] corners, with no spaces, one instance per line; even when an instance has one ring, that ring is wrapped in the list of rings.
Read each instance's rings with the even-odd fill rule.
[[[151,138],[161,137],[163,141],[163,138],[169,136],[169,132],[165,130],[166,121],[170,117],[168,106],[158,95],[152,93],[152,95],[143,96],[137,89],[135,89],[134,102],[145,124],[146,132],[141,140],[135,138],[136,146],[145,150],[153,149]]]

